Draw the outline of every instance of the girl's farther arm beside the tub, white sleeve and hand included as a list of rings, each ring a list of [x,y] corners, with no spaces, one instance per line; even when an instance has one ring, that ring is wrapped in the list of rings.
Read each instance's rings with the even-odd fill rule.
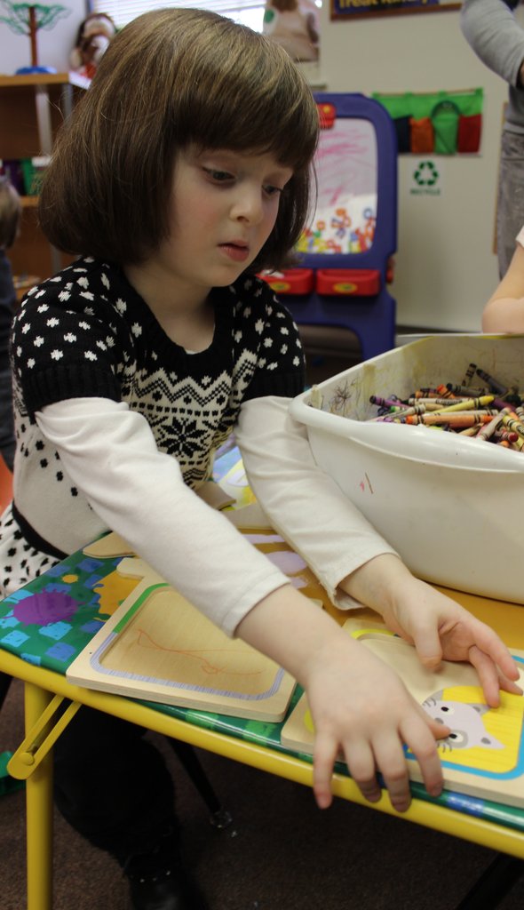
[[[471,662],[493,706],[500,687],[519,691],[511,682],[519,672],[499,636],[416,579],[317,467],[307,432],[289,415],[287,399],[248,401],[237,441],[271,524],[301,553],[338,607],[365,604],[377,611],[392,632],[415,644],[429,666],[442,658]]]

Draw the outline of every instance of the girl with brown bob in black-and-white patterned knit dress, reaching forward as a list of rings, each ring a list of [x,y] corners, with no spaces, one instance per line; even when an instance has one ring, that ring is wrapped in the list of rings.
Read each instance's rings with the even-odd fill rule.
[[[333,602],[380,612],[428,666],[469,660],[490,705],[500,687],[519,692],[497,635],[411,576],[288,416],[304,383],[297,328],[255,275],[297,241],[316,143],[307,84],[263,35],[188,9],[148,13],[116,35],[41,197],[47,237],[82,258],[28,294],[15,320],[18,448],[1,578],[13,591],[117,531],[305,687],[320,807],[341,748],[368,800],[381,796],[379,771],[404,811],[403,743],[438,794],[435,737],[447,729],[197,495],[234,430],[258,501]],[[57,804],[125,867],[136,908],[205,906],[177,858],[171,779],[142,733],[77,713],[55,747]]]

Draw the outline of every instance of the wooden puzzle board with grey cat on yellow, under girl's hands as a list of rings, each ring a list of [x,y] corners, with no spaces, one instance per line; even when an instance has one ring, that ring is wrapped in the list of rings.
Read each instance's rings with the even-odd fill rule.
[[[438,743],[448,790],[524,807],[524,697],[501,693],[499,708],[489,708],[469,664],[445,661],[438,671],[430,671],[408,642],[383,625],[348,620],[344,628],[392,666],[418,703],[451,728],[448,740]],[[513,650],[512,654],[519,664],[522,687],[524,652]],[[294,751],[312,753],[314,727],[305,695],[284,724],[281,742]],[[406,755],[410,778],[421,782],[415,756],[408,749]]]

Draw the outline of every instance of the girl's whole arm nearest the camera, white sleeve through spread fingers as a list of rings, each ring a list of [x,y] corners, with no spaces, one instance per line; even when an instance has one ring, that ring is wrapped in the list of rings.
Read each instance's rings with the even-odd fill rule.
[[[151,430],[125,404],[73,399],[36,420],[70,479],[106,522],[166,581],[226,631],[240,635],[307,690],[317,728],[315,794],[330,803],[340,749],[371,801],[382,771],[392,804],[408,807],[407,742],[431,793],[442,786],[435,735],[442,729],[396,674],[309,601],[265,556],[181,480]]]

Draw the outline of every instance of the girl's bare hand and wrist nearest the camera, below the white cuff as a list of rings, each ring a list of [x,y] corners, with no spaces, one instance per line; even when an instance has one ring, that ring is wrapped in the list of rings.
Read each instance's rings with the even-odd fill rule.
[[[380,798],[381,773],[391,804],[405,811],[410,794],[404,743],[418,759],[428,793],[440,793],[435,740],[448,735],[448,728],[432,721],[398,675],[327,612],[285,585],[247,613],[237,634],[285,667],[307,692],[320,808],[331,803],[333,766],[343,753],[366,799]]]

